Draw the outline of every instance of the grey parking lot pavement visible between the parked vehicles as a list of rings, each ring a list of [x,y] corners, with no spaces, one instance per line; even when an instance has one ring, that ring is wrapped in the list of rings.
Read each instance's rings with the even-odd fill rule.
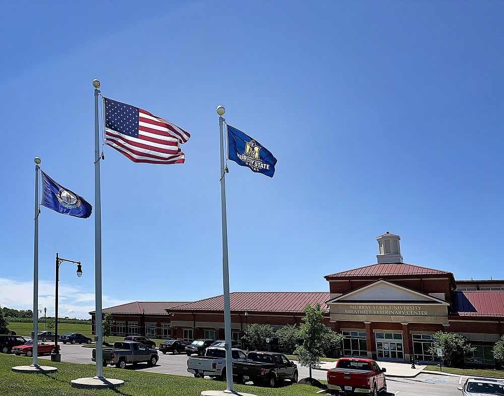
[[[91,348],[84,348],[81,345],[61,345],[61,361],[94,365],[95,363],[91,361],[91,351]],[[50,356],[39,356],[39,359],[50,360]],[[163,355],[160,353],[156,366],[141,363],[137,366],[128,366],[126,370],[192,376],[192,374],[187,372],[187,356],[185,354],[172,355],[168,353]],[[308,377],[307,368],[298,367],[298,370],[299,378]],[[312,376],[319,380],[325,380],[326,371],[312,370]],[[387,378],[387,395],[459,396],[461,392],[457,390],[457,387],[461,386],[460,384],[464,383],[466,378],[465,376],[458,375],[442,376],[423,373],[417,375],[415,378]]]

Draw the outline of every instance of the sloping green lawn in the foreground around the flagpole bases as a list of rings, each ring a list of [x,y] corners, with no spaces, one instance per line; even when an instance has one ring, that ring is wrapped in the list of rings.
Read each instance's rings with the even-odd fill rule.
[[[180,377],[169,374],[148,373],[132,369],[103,368],[107,378],[121,379],[119,388],[76,389],[70,386],[72,379],[93,377],[96,368],[87,364],[56,363],[40,359],[39,364],[58,368],[53,374],[15,373],[11,367],[30,365],[32,359],[0,353],[0,394],[9,396],[195,396],[203,390],[223,390],[226,383],[211,379]],[[286,381],[288,383],[288,381]],[[287,385],[275,389],[252,385],[233,384],[237,391],[254,393],[258,396],[308,396],[315,395],[317,387],[301,384]]]

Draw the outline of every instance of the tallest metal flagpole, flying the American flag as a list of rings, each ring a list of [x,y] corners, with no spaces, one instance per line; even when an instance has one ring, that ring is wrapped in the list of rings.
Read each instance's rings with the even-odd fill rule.
[[[98,95],[100,82],[93,80],[95,87],[95,341],[96,341],[96,377],[103,377],[102,343],[102,301],[101,301],[101,191],[100,191],[100,124],[98,121]]]

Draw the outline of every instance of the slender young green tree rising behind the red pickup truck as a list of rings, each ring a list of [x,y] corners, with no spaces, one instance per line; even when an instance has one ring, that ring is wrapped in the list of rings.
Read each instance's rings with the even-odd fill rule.
[[[324,342],[331,329],[322,323],[325,311],[320,308],[319,303],[314,307],[310,304],[306,305],[303,312],[305,313],[302,319],[304,323],[299,326],[297,332],[303,344],[296,348],[294,354],[297,355],[297,361],[301,366],[309,367],[311,379],[311,369],[320,368],[320,358],[324,356]]]

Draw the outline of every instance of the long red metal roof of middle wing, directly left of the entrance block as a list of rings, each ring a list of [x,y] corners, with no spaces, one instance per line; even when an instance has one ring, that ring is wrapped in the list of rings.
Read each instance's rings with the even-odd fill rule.
[[[230,293],[231,311],[302,312],[307,304],[319,303],[326,309],[328,292],[233,292]],[[182,304],[176,311],[223,311],[224,296],[210,297]]]

